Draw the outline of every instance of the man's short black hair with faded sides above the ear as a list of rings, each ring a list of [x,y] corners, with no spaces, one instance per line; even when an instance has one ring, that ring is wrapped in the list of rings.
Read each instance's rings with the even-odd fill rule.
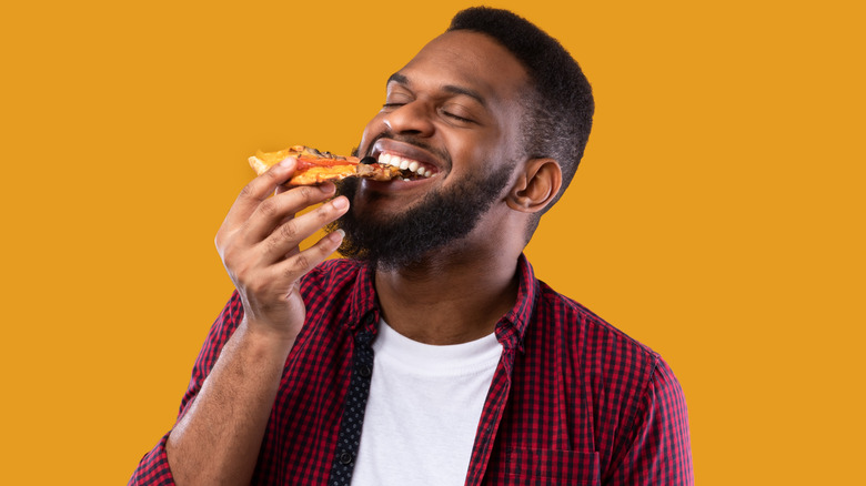
[[[531,158],[555,159],[563,171],[562,189],[546,211],[560,200],[583,158],[595,111],[590,82],[556,39],[511,11],[489,7],[462,10],[447,29],[454,30],[490,36],[526,69],[534,92],[522,100],[527,111],[524,149]],[[531,232],[535,225],[537,220]]]

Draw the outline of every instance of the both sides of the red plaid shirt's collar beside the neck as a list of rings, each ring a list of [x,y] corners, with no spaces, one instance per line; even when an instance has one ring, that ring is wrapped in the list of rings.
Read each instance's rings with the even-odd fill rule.
[[[376,333],[381,317],[375,288],[373,286],[373,270],[365,264],[353,262],[358,274],[352,292],[351,315],[345,323],[352,331],[366,330]],[[532,320],[535,300],[540,294],[538,281],[526,255],[517,259],[517,300],[514,307],[496,323],[496,340],[506,350],[523,350],[523,335]]]

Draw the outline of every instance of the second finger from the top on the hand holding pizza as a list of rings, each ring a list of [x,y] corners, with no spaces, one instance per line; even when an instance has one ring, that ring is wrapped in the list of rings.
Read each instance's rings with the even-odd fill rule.
[[[263,241],[281,225],[294,221],[296,213],[326,201],[335,191],[334,184],[305,185],[262,201],[244,223],[244,242],[253,245]]]

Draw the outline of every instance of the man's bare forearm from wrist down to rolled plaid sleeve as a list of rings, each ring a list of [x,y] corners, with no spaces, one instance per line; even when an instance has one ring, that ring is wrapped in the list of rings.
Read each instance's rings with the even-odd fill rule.
[[[177,484],[250,483],[292,344],[238,327],[169,436]]]

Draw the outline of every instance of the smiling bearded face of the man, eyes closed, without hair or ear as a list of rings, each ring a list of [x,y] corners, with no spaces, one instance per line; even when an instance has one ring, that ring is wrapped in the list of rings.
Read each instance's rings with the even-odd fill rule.
[[[393,74],[359,155],[423,175],[348,180],[341,190],[352,207],[339,223],[344,253],[402,266],[467,236],[502,201],[523,155],[518,100],[526,83],[505,48],[469,31],[434,39]]]

